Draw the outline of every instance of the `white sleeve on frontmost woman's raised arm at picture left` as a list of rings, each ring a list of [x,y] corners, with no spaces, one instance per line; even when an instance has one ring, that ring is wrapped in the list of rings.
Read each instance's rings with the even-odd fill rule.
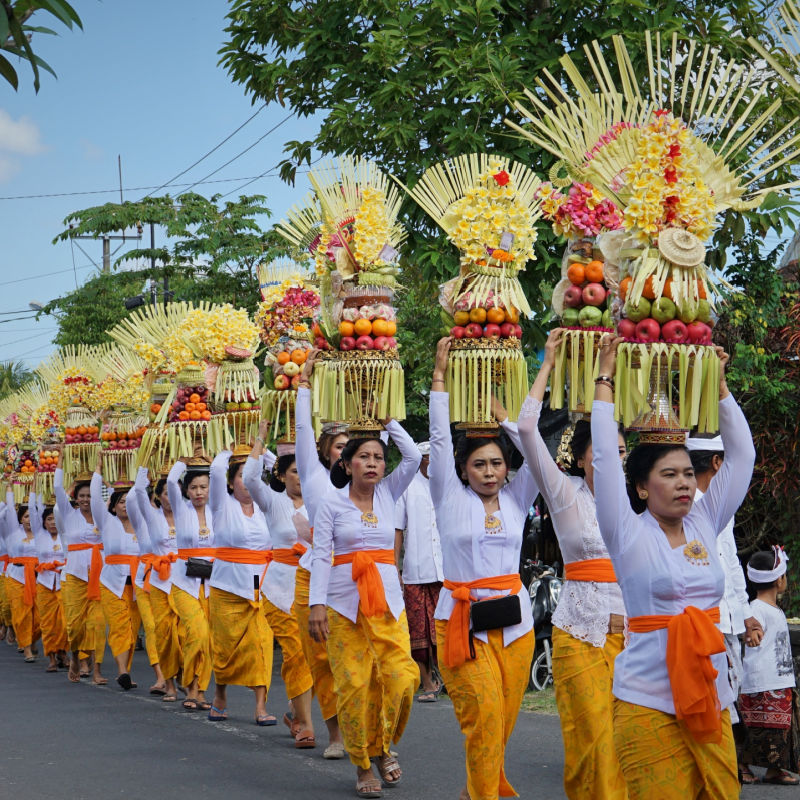
[[[595,400],[592,404],[592,465],[597,523],[608,552],[625,552],[635,534],[631,525],[637,515],[625,489],[625,473],[619,458],[619,433],[614,404]]]

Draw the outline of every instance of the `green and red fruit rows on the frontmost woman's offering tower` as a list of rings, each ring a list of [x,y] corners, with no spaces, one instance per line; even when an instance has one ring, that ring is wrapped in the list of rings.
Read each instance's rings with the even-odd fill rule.
[[[674,290],[672,278],[660,289],[650,276],[636,303],[627,300],[633,283],[628,275],[619,285],[623,302],[622,315],[617,322],[620,336],[629,342],[667,342],[668,344],[711,344],[714,327],[711,304],[702,279],[697,279],[700,299],[696,303],[682,301]]]

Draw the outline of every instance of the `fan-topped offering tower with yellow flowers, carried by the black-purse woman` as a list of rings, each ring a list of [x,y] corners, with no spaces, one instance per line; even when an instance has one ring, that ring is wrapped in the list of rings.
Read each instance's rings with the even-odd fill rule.
[[[535,258],[539,185],[522,164],[477,153],[431,167],[407,190],[461,254],[439,302],[453,337],[450,418],[468,434],[497,428],[493,395],[515,420],[528,391],[519,319],[531,309],[518,276]]]

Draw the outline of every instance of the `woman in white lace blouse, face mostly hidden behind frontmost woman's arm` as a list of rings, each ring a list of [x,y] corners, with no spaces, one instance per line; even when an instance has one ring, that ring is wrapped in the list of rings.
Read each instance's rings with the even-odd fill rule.
[[[553,682],[564,740],[564,788],[571,800],[622,800],[625,781],[611,718],[614,660],[624,645],[625,604],[594,502],[592,435],[588,420],[567,445],[568,473],[559,469],[539,433],[539,416],[562,331],[550,333],[544,360],[519,416],[522,449],[553,520],[566,581],[553,614]],[[617,453],[625,438],[617,434]]]

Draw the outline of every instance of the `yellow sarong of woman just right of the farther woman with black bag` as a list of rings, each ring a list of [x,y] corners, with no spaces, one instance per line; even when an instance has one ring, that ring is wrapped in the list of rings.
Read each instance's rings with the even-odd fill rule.
[[[269,690],[274,638],[260,604],[212,586],[208,610],[214,680]]]

